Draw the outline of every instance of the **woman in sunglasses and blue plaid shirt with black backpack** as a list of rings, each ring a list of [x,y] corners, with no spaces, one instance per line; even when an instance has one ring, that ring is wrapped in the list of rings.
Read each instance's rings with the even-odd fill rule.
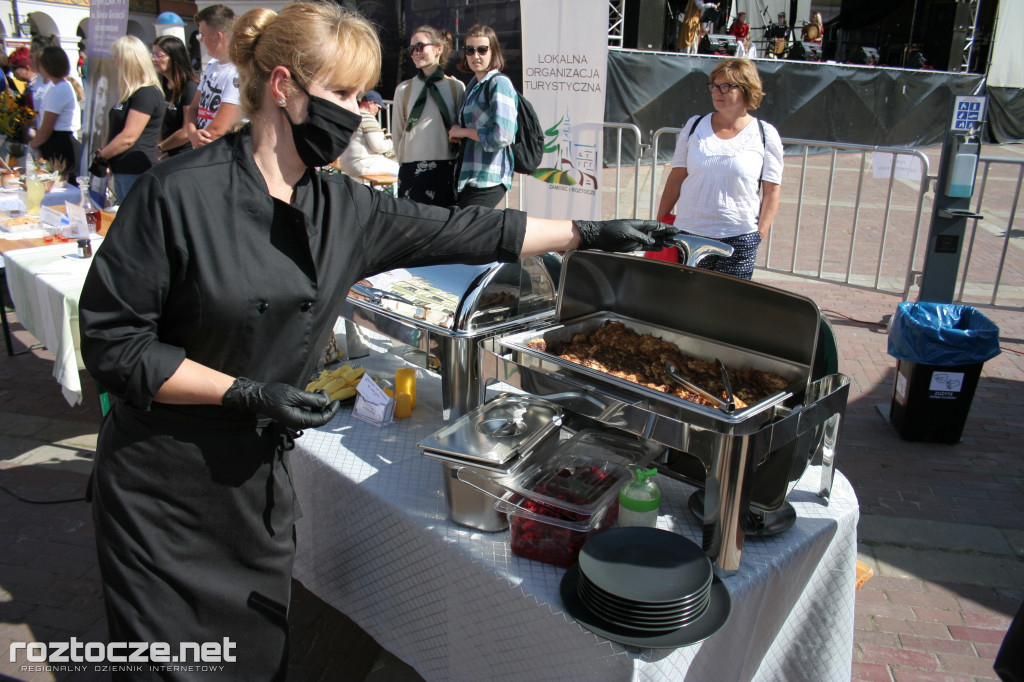
[[[515,86],[502,75],[505,59],[489,26],[474,26],[466,35],[459,71],[472,73],[459,124],[449,139],[462,142],[456,178],[459,206],[495,208],[512,186],[512,142],[516,130]]]

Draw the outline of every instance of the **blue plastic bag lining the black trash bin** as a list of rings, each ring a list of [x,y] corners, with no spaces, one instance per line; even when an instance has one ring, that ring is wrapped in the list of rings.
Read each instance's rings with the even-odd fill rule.
[[[999,354],[999,328],[970,305],[904,301],[889,326],[889,354],[940,367],[984,363]]]

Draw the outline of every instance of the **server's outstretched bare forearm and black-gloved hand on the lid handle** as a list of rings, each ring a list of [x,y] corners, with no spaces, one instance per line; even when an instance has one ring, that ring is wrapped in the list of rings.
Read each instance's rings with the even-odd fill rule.
[[[679,230],[656,220],[549,220],[526,218],[521,256],[549,251],[653,251],[671,245]]]

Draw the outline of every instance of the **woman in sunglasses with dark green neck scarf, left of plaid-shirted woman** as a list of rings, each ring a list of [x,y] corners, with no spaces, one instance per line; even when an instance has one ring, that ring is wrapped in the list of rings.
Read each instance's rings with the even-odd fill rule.
[[[452,206],[458,148],[449,142],[449,129],[466,93],[462,81],[444,75],[452,34],[421,26],[410,39],[409,52],[417,74],[395,88],[391,116],[391,138],[400,164],[398,196]]]

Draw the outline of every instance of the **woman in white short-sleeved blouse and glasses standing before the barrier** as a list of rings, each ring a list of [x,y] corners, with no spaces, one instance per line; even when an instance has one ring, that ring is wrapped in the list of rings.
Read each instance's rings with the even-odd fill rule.
[[[774,126],[750,114],[764,96],[753,61],[719,61],[708,89],[715,111],[692,117],[679,133],[657,215],[733,247],[732,256],[710,256],[698,267],[750,280],[758,245],[778,211],[782,140]],[[655,257],[666,255],[675,250]]]

